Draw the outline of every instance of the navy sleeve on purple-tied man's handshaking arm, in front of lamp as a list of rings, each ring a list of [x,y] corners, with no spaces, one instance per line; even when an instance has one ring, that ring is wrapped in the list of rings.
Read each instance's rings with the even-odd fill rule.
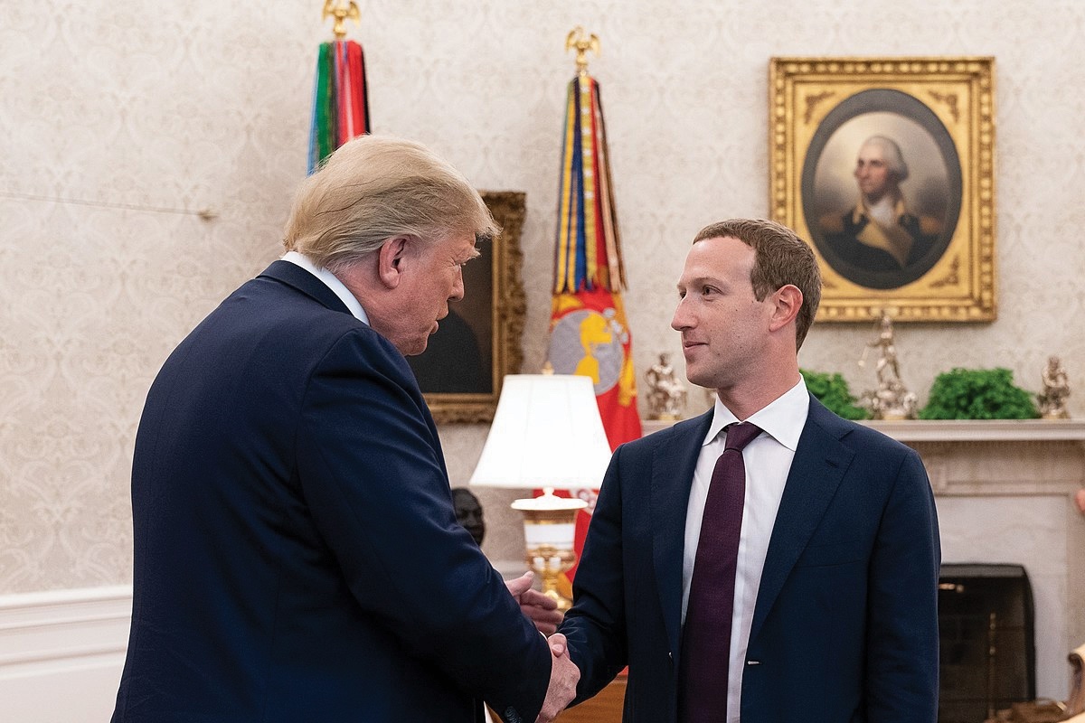
[[[628,664],[625,572],[622,554],[622,466],[626,448],[611,459],[591,515],[580,564],[573,581],[573,608],[558,632],[569,640],[580,669],[576,700],[586,700]]]

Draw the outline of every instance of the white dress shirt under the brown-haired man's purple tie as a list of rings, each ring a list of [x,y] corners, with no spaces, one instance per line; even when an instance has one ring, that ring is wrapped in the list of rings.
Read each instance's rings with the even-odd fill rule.
[[[728,723],[739,721],[742,673],[745,668],[746,646],[750,643],[753,609],[757,602],[757,589],[761,586],[761,573],[765,566],[765,554],[768,552],[776,513],[783,496],[783,486],[788,480],[791,462],[795,457],[795,448],[806,425],[808,412],[809,396],[802,377],[799,384],[768,406],[755,412],[749,419],[737,418],[717,398],[712,426],[709,427],[709,434],[701,446],[701,453],[693,470],[693,486],[689,493],[689,506],[686,508],[686,546],[682,556],[684,623],[709,483],[712,481],[712,470],[716,466],[716,460],[724,453],[726,434],[722,432],[724,427],[733,422],[751,422],[762,428],[762,434],[742,450],[746,485],[735,577],[735,611],[731,617],[730,667],[727,676]]]

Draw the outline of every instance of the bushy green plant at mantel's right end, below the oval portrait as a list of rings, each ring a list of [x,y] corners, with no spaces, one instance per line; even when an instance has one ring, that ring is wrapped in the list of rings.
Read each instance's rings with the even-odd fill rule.
[[[1033,396],[1013,384],[1013,373],[997,369],[954,369],[939,374],[920,419],[1034,419]]]

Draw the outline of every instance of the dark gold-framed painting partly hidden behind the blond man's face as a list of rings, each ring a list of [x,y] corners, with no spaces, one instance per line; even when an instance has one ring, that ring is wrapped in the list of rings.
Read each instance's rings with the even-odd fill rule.
[[[463,267],[463,300],[450,305],[426,350],[407,358],[438,424],[493,419],[501,379],[519,374],[523,362],[525,194],[481,193],[501,233],[492,244],[480,244],[481,256]]]

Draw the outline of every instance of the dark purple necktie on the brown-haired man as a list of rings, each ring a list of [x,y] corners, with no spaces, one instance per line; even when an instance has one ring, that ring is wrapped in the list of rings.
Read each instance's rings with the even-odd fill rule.
[[[726,720],[735,571],[745,501],[742,448],[760,434],[761,429],[749,422],[728,425],[724,453],[712,470],[682,628],[678,677],[681,723]]]

